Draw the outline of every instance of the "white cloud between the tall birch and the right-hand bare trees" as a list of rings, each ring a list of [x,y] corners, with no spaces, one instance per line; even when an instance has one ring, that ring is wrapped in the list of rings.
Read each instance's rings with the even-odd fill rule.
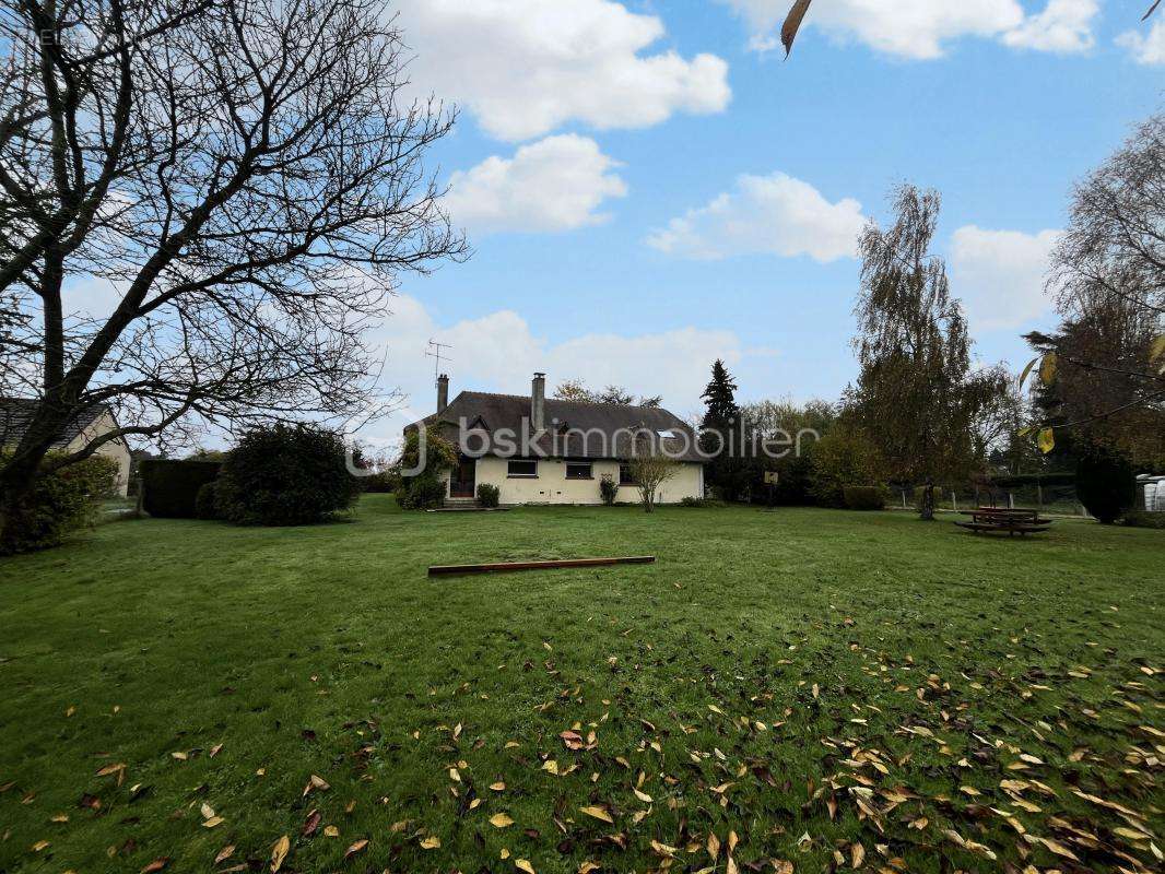
[[[1059,231],[1025,234],[960,227],[951,239],[951,287],[973,327],[1021,327],[1046,315],[1052,299],[1044,284]]]

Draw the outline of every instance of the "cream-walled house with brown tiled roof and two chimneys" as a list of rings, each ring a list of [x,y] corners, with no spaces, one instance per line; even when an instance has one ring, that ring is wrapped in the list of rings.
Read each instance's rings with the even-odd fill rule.
[[[418,427],[436,428],[459,449],[458,465],[443,473],[451,503],[472,502],[482,482],[497,486],[503,505],[601,503],[603,475],[619,484],[617,500],[636,501],[628,460],[643,435],[678,461],[658,502],[704,496],[705,459],[678,416],[657,407],[548,399],[543,373],[534,375],[529,396],[463,392],[452,402],[442,375],[437,413],[405,430]]]

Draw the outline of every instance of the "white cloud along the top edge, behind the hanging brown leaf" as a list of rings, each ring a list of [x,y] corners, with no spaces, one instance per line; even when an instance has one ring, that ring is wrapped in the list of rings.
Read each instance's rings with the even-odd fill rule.
[[[750,48],[778,44],[772,34],[789,12],[788,0],[720,0],[749,24]],[[1015,48],[1083,51],[1093,44],[1096,0],[1048,0],[1026,15],[1018,0],[832,0],[812,6],[806,27],[856,40],[876,51],[911,59],[941,57],[963,37],[1002,40]]]

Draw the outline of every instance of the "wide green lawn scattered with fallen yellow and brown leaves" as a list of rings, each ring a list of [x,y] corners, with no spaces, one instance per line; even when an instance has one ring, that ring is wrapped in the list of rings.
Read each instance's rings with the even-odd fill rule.
[[[0,562],[0,872],[1159,869],[1163,604],[1075,521],[111,523]]]

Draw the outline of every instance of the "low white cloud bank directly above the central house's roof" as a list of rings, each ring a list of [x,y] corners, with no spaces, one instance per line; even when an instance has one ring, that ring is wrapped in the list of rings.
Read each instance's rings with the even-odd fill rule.
[[[712,361],[722,358],[733,367],[760,354],[744,351],[740,338],[726,330],[586,333],[551,343],[513,310],[443,323],[407,295],[395,298],[391,309],[369,339],[387,351],[382,382],[408,395],[407,409],[360,435],[386,443],[398,438],[404,420],[433,411],[433,359],[425,357],[430,338],[452,346],[447,350],[452,362],[443,366],[451,376],[451,396],[463,390],[529,394],[530,376],[543,371],[551,392],[567,379],[599,388],[620,385],[636,394],[663,395],[664,406],[680,416],[700,406]]]

